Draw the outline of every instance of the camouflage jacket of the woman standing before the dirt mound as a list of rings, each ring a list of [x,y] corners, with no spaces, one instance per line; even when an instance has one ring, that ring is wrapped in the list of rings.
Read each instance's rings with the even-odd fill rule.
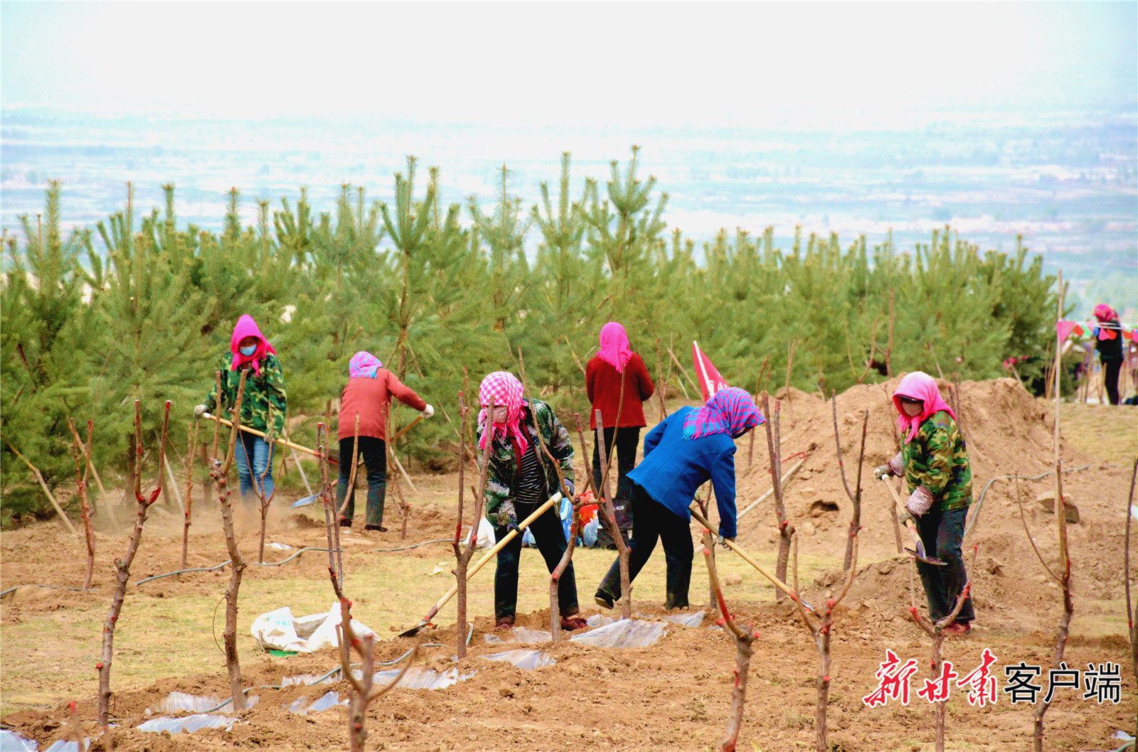
[[[924,486],[932,495],[930,509],[957,510],[972,503],[972,469],[964,435],[945,411],[921,423],[917,435],[901,447],[901,462],[909,491]]]

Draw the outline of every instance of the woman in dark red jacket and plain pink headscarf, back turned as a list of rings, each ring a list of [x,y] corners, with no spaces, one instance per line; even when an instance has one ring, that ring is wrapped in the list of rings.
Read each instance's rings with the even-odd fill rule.
[[[617,454],[617,493],[612,498],[612,507],[617,515],[617,524],[624,538],[628,539],[628,530],[633,520],[629,510],[632,488],[626,476],[636,464],[636,446],[640,444],[640,430],[648,423],[644,421],[644,400],[652,396],[654,386],[644,366],[644,358],[633,353],[628,345],[625,328],[610,321],[601,328],[601,350],[593,356],[585,369],[585,388],[588,400],[593,404],[589,412],[588,427],[596,429],[596,411],[601,411],[604,421],[604,453],[612,457],[613,447]],[[621,388],[624,399],[621,400]],[[619,428],[620,430],[617,430]],[[613,436],[616,443],[613,443]],[[601,455],[593,446],[593,479],[601,487]],[[599,546],[615,546],[608,540],[602,528],[597,535]]]

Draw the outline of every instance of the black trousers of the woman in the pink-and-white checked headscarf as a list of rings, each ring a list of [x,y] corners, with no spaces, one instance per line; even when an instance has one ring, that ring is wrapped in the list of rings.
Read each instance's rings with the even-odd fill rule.
[[[539,504],[514,503],[519,521],[533,514]],[[558,517],[556,505],[545,510],[542,517],[534,520],[528,528],[534,534],[537,549],[545,559],[546,569],[552,572],[561,563],[569,542],[566,540],[564,528],[561,527],[561,518]],[[497,543],[510,531],[508,527],[494,528],[494,540]],[[497,555],[497,571],[494,573],[494,617],[513,618],[518,610],[518,561],[521,559],[521,535],[514,536]],[[566,567],[558,582],[558,608],[562,617],[571,617],[580,611],[577,606],[577,578],[574,575],[572,562]]]

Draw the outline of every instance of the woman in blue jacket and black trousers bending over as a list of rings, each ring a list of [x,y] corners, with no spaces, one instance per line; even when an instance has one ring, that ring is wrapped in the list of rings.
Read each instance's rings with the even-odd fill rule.
[[[628,473],[633,490],[628,577],[636,579],[659,538],[668,567],[666,609],[687,605],[693,555],[687,505],[708,480],[719,506],[719,535],[735,537],[734,439],[761,422],[751,395],[732,387],[717,391],[700,410],[682,407],[644,437],[644,458]],[[618,559],[596,588],[596,603],[611,609],[619,598]]]

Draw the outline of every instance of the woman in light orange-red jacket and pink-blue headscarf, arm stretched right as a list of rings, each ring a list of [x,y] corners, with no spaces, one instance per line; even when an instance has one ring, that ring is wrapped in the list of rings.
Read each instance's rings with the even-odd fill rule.
[[[355,419],[360,416],[360,456],[368,468],[368,515],[364,530],[387,530],[384,527],[384,497],[387,491],[387,405],[391,397],[421,411],[424,418],[435,414],[435,408],[423,398],[404,386],[395,374],[384,367],[371,353],[360,352],[348,364],[348,382],[340,392],[339,422],[340,481],[336,486],[336,509],[344,506],[348,495],[352,474],[352,452],[354,448]],[[348,497],[347,509],[340,524],[351,528],[355,513],[355,489]]]

